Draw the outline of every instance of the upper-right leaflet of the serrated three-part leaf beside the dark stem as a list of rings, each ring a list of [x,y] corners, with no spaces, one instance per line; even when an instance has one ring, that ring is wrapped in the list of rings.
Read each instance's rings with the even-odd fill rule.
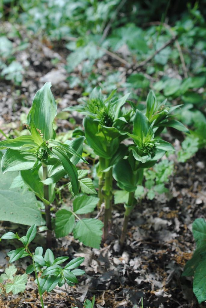
[[[92,196],[79,196],[76,197],[73,201],[73,209],[76,214],[87,214],[91,213],[97,203],[99,202],[99,198]]]

